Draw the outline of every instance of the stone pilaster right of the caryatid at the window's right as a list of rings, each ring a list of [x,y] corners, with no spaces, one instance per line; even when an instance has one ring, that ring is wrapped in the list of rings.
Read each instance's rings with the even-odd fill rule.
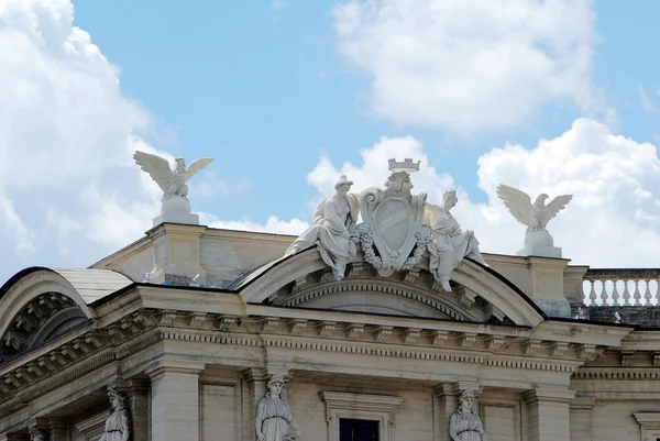
[[[569,406],[575,397],[568,389],[532,389],[522,394],[528,412],[529,441],[570,441]]]

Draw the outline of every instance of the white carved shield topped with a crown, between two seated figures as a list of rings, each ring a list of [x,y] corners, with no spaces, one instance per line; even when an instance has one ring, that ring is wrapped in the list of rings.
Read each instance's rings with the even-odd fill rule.
[[[383,277],[411,269],[431,240],[431,230],[421,223],[426,194],[410,192],[410,173],[418,170],[419,162],[389,159],[385,189],[372,187],[360,196],[360,244],[364,260]]]

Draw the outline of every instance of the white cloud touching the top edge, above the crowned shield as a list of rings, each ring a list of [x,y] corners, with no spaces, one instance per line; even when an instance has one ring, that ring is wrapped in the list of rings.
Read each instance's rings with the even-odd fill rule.
[[[341,53],[371,79],[377,115],[470,133],[524,123],[558,100],[602,106],[591,85],[592,7],[351,0],[332,14]]]

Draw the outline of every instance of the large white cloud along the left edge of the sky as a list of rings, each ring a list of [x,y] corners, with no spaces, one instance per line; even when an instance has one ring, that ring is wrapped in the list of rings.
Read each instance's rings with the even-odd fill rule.
[[[133,165],[148,113],[119,69],[73,26],[69,0],[0,2],[0,276],[86,266],[140,238],[160,190]],[[144,175],[144,176],[143,176]]]

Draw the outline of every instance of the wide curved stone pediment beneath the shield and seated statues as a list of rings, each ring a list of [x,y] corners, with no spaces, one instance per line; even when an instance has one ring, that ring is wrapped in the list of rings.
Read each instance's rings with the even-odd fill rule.
[[[508,320],[535,327],[543,313],[515,285],[491,268],[464,260],[453,272],[452,293],[436,288],[420,264],[414,273],[381,277],[363,261],[336,280],[316,249],[256,269],[235,289],[246,302],[377,312],[468,321]]]

